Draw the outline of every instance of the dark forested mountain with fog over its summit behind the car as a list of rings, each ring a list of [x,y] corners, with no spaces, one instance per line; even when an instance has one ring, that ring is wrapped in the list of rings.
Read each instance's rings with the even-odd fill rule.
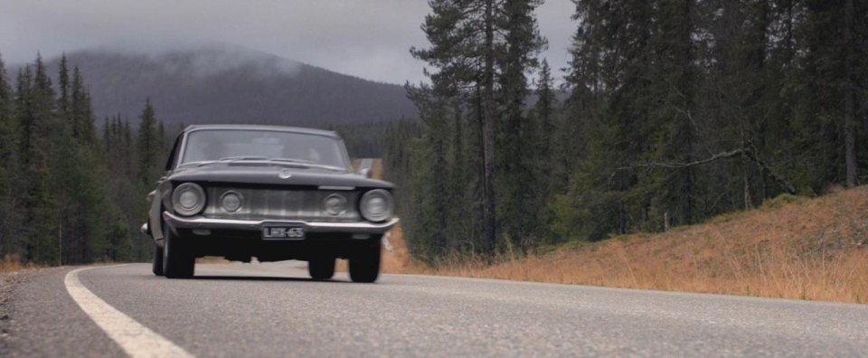
[[[67,53],[67,61],[80,68],[100,124],[118,113],[137,122],[146,98],[166,124],[324,125],[418,116],[400,85],[227,44],[158,53],[100,48]],[[56,78],[60,58],[46,62]]]

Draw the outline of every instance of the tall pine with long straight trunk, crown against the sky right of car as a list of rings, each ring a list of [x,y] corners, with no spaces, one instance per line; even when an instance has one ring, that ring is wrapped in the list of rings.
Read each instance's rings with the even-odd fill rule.
[[[490,258],[494,255],[498,228],[495,217],[495,155],[498,142],[495,128],[503,125],[497,124],[500,120],[497,119],[499,110],[495,87],[506,73],[510,74],[510,83],[518,84],[524,80],[526,66],[533,62],[533,55],[542,46],[533,18],[533,8],[537,2],[433,0],[429,5],[432,13],[426,16],[422,30],[431,47],[413,48],[410,52],[438,69],[436,73],[429,73],[435,89],[451,91],[466,100],[473,98],[468,89],[478,90],[476,99],[482,119],[479,133],[485,238],[482,251]],[[500,36],[500,33],[506,33],[506,36]],[[508,69],[507,64],[510,66]],[[526,83],[522,86],[526,86]],[[473,102],[467,103],[474,106]],[[518,108],[522,106],[524,104]],[[515,106],[513,109],[513,113],[518,111]]]

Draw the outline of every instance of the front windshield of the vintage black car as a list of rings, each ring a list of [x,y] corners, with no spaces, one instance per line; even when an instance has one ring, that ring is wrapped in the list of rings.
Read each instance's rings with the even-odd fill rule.
[[[346,168],[340,139],[275,130],[211,129],[190,132],[181,164],[219,160],[279,160]]]

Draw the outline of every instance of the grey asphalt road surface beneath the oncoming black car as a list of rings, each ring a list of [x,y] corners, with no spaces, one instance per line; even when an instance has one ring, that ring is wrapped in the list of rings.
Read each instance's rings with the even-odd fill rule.
[[[78,271],[75,289],[79,268],[41,270],[5,304],[0,355],[130,352],[85,313],[96,301],[195,356],[868,355],[868,306],[472,278],[314,282],[304,265],[198,265],[188,280],[103,267]],[[98,298],[80,306],[73,292]]]

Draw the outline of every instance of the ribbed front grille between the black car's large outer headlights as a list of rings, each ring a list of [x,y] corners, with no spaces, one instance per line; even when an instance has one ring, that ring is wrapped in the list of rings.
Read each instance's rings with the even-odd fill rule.
[[[358,193],[327,190],[238,189],[209,187],[208,205],[203,216],[213,219],[236,220],[299,220],[299,221],[362,221],[358,212]],[[241,194],[241,208],[237,212],[222,209],[220,198],[226,192]],[[346,212],[329,215],[324,212],[323,201],[338,193],[346,198]]]

